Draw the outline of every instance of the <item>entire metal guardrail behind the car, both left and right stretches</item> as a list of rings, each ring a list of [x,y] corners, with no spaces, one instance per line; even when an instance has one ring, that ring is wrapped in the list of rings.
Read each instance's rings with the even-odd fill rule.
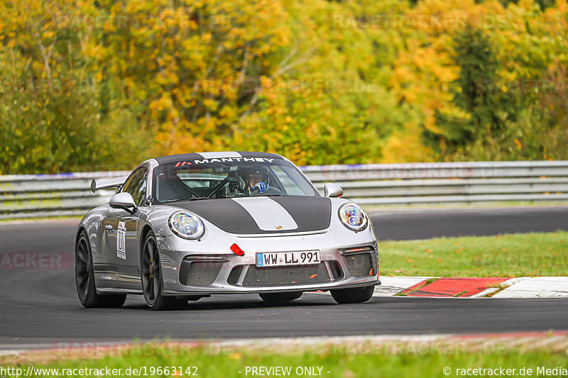
[[[368,206],[568,201],[568,161],[432,162],[300,167],[323,191],[326,182]],[[0,219],[82,215],[114,191],[90,191],[97,179],[130,172],[0,176]]]

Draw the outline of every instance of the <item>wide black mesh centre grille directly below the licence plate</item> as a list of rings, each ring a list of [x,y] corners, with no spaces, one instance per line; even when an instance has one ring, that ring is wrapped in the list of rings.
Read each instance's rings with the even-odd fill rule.
[[[310,278],[311,277],[311,278]],[[250,265],[243,280],[243,286],[265,286],[280,284],[306,284],[329,282],[325,263],[299,267],[256,267]]]

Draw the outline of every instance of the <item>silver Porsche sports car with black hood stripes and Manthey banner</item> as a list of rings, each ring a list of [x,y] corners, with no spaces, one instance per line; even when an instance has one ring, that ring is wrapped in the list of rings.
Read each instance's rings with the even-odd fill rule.
[[[89,211],[75,238],[77,293],[85,307],[118,307],[143,294],[154,310],[211,294],[258,293],[290,301],[331,291],[338,303],[371,299],[378,248],[371,220],[322,197],[290,160],[261,152],[157,157],[129,177],[93,180],[116,188]]]

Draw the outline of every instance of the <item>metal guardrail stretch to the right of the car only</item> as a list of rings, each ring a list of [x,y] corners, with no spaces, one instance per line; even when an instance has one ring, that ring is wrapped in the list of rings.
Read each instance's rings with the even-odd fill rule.
[[[364,205],[568,201],[568,161],[432,162],[302,167]]]

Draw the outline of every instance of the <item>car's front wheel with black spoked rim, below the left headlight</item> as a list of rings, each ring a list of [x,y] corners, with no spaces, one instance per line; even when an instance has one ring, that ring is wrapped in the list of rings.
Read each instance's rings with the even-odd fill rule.
[[[187,305],[187,299],[177,299],[175,296],[163,295],[160,252],[152,231],[146,235],[144,240],[140,268],[144,299],[152,310],[179,310]]]

